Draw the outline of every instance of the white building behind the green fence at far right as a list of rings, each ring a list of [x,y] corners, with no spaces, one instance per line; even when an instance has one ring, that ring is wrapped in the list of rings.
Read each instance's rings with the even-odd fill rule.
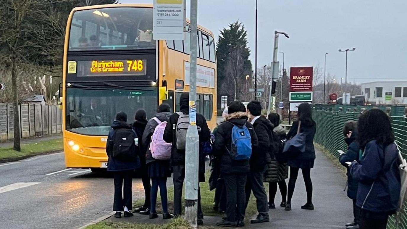
[[[375,81],[361,84],[366,103],[407,104],[407,81]]]

